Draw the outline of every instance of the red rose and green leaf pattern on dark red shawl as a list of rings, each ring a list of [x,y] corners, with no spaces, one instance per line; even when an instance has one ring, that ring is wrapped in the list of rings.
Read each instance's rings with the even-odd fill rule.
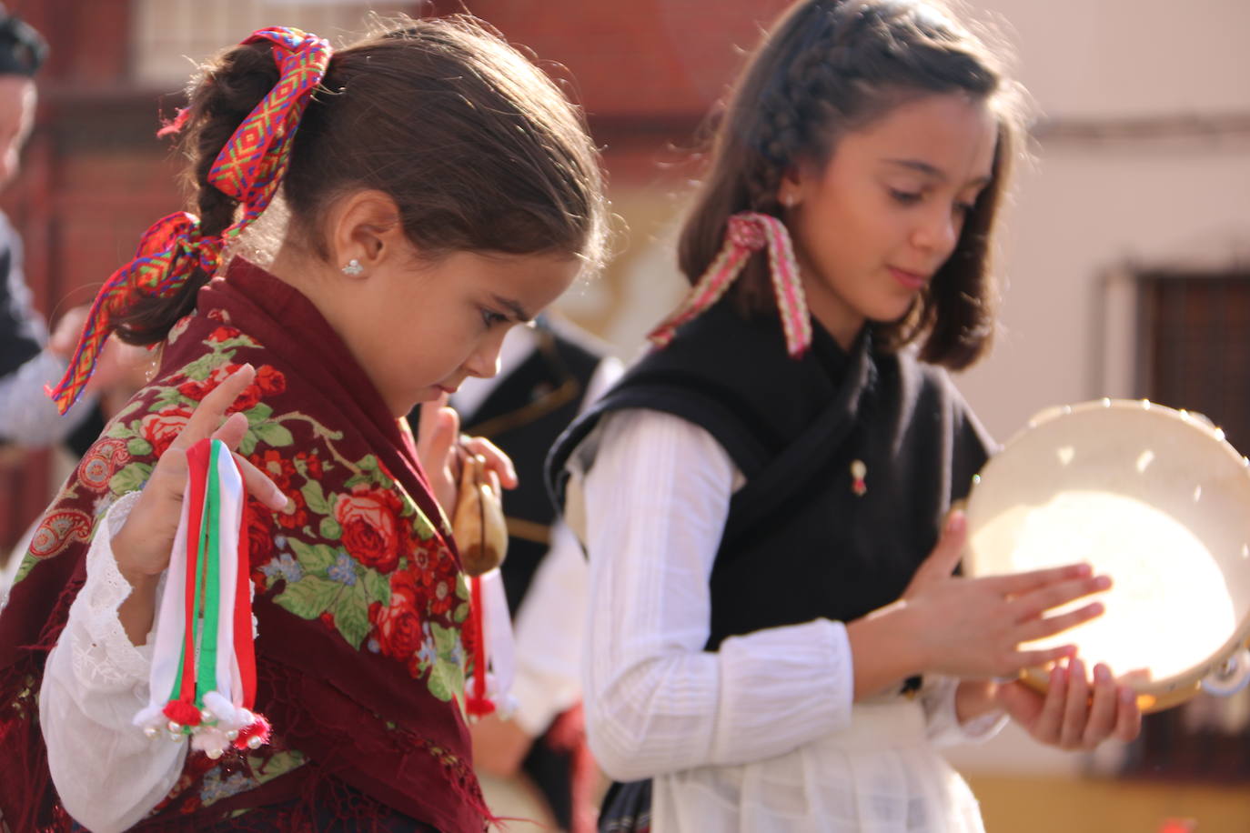
[[[175,341],[178,347],[170,348]],[[406,576],[399,579],[408,593],[401,602],[410,601],[411,612],[421,617],[420,638],[409,656],[388,656],[378,662],[395,662],[401,673],[414,678],[412,691],[424,689],[430,698],[448,704],[449,716],[458,713],[455,701],[462,696],[465,678],[460,623],[468,618],[469,593],[455,557],[436,532],[450,532],[445,518],[441,513],[426,517],[381,461],[371,455],[361,456],[361,443],[354,432],[332,430],[318,421],[314,411],[300,407],[298,396],[306,393],[294,382],[288,391],[282,371],[265,363],[272,361],[271,355],[260,342],[234,328],[230,316],[221,308],[180,320],[165,342],[158,377],[114,415],[80,463],[82,470],[75,472],[54,500],[15,584],[22,582],[42,557],[70,550],[80,558],[81,545],[90,541],[108,507],[146,483],[156,456],[168,448],[176,433],[170,430],[172,425],[189,416],[234,368],[250,361],[256,367],[256,380],[231,408],[242,412],[248,421],[238,451],[244,457],[259,460],[271,475],[279,475],[275,480],[284,481],[281,486],[291,501],[285,513],[275,513],[249,500],[254,513],[246,530],[251,550],[249,574],[258,599],[265,597],[266,603],[314,622],[319,629],[341,637],[351,648],[369,651],[372,646],[366,642],[375,642],[371,634],[376,637],[370,609],[375,604],[389,607],[391,578]],[[284,395],[282,400],[266,401],[279,393]],[[275,407],[280,408],[278,413]],[[394,490],[389,508],[395,517],[401,555],[390,573],[368,567],[349,552],[342,525],[334,512],[340,496],[350,500],[375,488]],[[422,569],[415,567],[418,561]],[[436,599],[429,587],[436,587],[444,577],[454,593]],[[424,589],[416,593],[418,588]],[[435,613],[434,602],[438,601],[441,609],[445,598],[452,598],[452,606],[445,613]],[[401,653],[398,641],[391,648]],[[31,717],[36,714],[38,679],[28,677],[24,686],[20,678],[15,679],[19,687],[8,692],[10,698],[2,704],[9,714],[32,724],[38,719]],[[20,723],[14,726],[21,727]],[[466,763],[466,748],[452,753],[402,726],[388,722],[386,729],[396,738],[396,744],[428,753],[444,773],[448,786],[468,786],[480,802],[476,781]],[[29,731],[29,726],[20,731]],[[239,788],[254,788],[301,767],[305,759],[299,752],[282,747],[281,727],[275,731],[279,732],[276,746],[244,761],[214,762],[204,756],[190,756],[178,782],[152,813],[166,818],[194,814]],[[246,786],[236,776],[239,772],[249,773]],[[259,777],[251,779],[252,776]]]

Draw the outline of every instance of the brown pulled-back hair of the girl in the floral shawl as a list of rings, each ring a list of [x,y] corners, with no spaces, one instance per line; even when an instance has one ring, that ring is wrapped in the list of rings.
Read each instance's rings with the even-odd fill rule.
[[[235,129],[278,81],[269,41],[234,46],[201,67],[181,149],[205,236],[239,204],[208,182]],[[580,112],[538,67],[468,15],[410,20],[339,50],[295,135],[282,196],[289,235],[328,255],[321,220],[355,189],[395,200],[422,255],[566,252],[602,257],[606,205]],[[119,323],[131,343],[161,341],[208,282],[145,297]]]

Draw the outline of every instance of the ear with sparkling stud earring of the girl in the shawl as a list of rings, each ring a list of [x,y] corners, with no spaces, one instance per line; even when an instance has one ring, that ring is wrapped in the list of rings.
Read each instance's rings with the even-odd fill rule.
[[[339,200],[328,231],[331,265],[348,277],[365,277],[388,259],[410,256],[399,206],[382,191],[356,191]]]

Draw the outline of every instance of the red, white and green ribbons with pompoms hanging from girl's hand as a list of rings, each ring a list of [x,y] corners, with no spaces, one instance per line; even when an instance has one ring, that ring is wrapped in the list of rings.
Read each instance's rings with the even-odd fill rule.
[[[156,619],[148,706],[135,724],[149,737],[191,737],[220,758],[256,749],[269,723],[256,697],[251,587],[242,477],[221,441],[186,452],[188,488]]]

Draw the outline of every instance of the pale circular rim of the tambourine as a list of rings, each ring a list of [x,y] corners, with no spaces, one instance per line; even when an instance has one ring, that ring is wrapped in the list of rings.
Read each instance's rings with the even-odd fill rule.
[[[1225,440],[1224,432],[1216,426],[1211,425],[1202,417],[1196,417],[1189,411],[1171,408],[1165,405],[1158,405],[1150,402],[1149,400],[1118,400],[1118,398],[1101,398],[1091,400],[1086,402],[1078,402],[1074,405],[1061,405],[1048,407],[1038,413],[1035,413],[1022,428],[1016,431],[1011,437],[999,448],[998,452],[990,456],[990,458],[981,466],[980,472],[972,477],[972,486],[969,491],[965,515],[968,517],[968,546],[964,552],[964,569],[969,576],[974,576],[976,572],[975,557],[976,553],[971,548],[972,536],[976,532],[976,493],[980,483],[985,480],[985,473],[991,471],[995,461],[1012,445],[1020,442],[1022,437],[1030,435],[1035,430],[1045,426],[1056,420],[1069,417],[1075,413],[1084,413],[1089,411],[1106,411],[1106,410],[1119,410],[1119,411],[1134,411],[1141,413],[1158,415],[1161,418],[1168,420],[1171,425],[1184,425],[1190,430],[1200,432],[1208,440],[1218,443],[1222,451],[1229,455],[1229,458],[1235,463],[1236,468],[1241,472],[1241,477],[1246,480],[1250,485],[1250,458],[1242,456],[1238,452],[1232,445]],[[1170,677],[1161,677],[1159,679],[1150,681],[1148,683],[1129,683],[1130,687],[1138,692],[1138,694],[1144,694],[1154,698],[1156,702],[1150,707],[1144,707],[1144,711],[1155,711],[1160,708],[1168,708],[1175,706],[1176,703],[1188,699],[1190,696],[1198,692],[1199,682],[1209,673],[1219,668],[1224,662],[1229,659],[1239,648],[1242,647],[1250,639],[1250,611],[1242,617],[1241,622],[1234,631],[1232,636],[1220,646],[1219,651],[1212,653],[1208,659],[1200,662],[1191,668],[1188,668],[1180,673],[1171,674]],[[1028,682],[1039,688],[1045,688],[1045,672],[1040,669],[1030,669],[1025,672]]]

